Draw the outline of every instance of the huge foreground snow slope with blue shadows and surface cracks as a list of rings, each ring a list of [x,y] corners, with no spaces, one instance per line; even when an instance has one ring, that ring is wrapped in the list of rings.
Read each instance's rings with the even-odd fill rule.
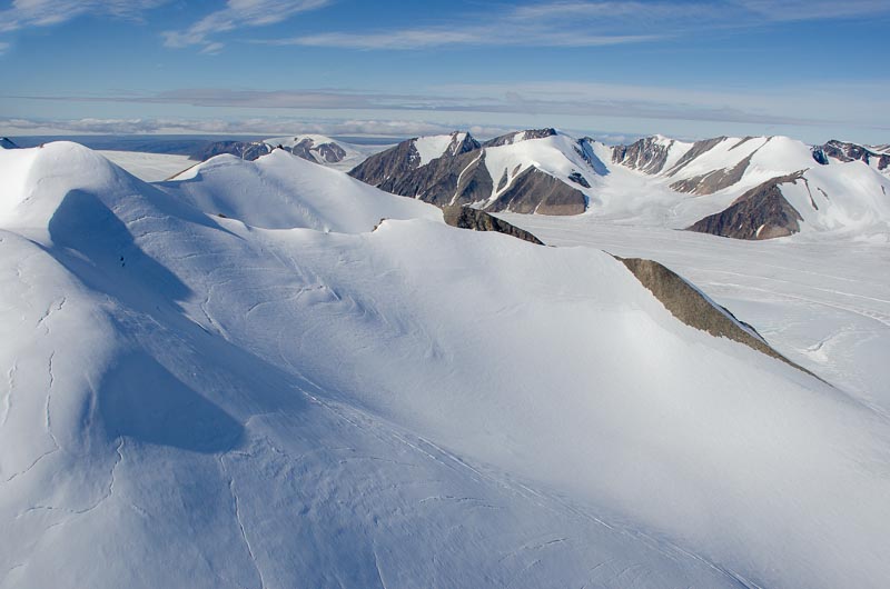
[[[0,586],[886,581],[884,417],[606,253],[370,232],[385,194],[267,158],[0,152]]]

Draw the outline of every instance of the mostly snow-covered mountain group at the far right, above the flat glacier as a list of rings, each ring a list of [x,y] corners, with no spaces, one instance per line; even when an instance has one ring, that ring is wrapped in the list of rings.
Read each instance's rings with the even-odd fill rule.
[[[882,158],[850,143],[811,148],[787,137],[694,143],[652,137],[612,150],[613,164],[656,179],[671,213],[689,229],[741,239],[804,230],[888,234],[890,178],[881,173]]]

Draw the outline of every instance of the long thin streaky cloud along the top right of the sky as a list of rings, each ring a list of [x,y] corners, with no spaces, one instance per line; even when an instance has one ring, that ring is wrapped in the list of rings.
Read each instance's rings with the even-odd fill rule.
[[[416,50],[461,47],[601,47],[701,36],[703,30],[752,28],[772,22],[861,18],[890,13],[886,0],[557,0],[456,14],[449,22],[376,31],[322,31],[284,39],[255,39],[274,46],[358,50]]]

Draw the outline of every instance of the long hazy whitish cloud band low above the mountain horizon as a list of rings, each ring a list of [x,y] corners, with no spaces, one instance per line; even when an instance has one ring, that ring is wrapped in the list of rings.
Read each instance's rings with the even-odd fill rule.
[[[779,126],[869,124],[886,121],[888,84],[774,84],[769,88],[691,88],[656,84],[609,84],[574,81],[506,81],[418,88],[409,94],[305,90],[179,89],[147,94],[44,96],[20,99],[131,104],[187,104],[233,112],[365,112],[471,120],[495,117],[545,120],[557,117],[624,120],[700,121]],[[802,101],[801,97],[807,97]],[[136,107],[130,108],[136,111]],[[407,113],[411,113],[408,116]],[[451,113],[451,114],[449,114]],[[352,114],[344,114],[352,116]],[[546,120],[545,120],[546,123]],[[550,123],[553,124],[553,123]]]

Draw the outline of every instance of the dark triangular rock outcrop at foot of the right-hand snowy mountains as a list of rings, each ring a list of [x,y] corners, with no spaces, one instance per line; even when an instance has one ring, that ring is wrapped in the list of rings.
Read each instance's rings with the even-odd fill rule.
[[[771,239],[800,231],[800,213],[782,196],[780,186],[795,183],[803,172],[768,180],[752,188],[722,212],[711,214],[686,229],[735,239]]]

